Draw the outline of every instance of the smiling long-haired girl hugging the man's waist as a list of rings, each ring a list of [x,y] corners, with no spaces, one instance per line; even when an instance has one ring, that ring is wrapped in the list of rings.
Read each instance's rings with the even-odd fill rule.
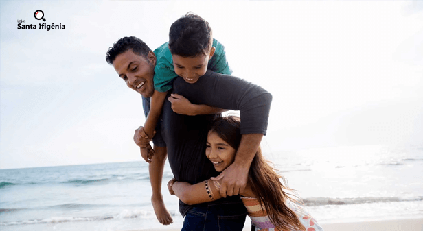
[[[240,145],[239,117],[219,117],[215,119],[207,136],[206,156],[221,172],[232,164]],[[249,171],[249,180],[244,192],[240,193],[255,230],[323,230],[301,206],[290,197],[290,190],[279,180],[278,175],[264,160],[259,147]],[[220,181],[205,180],[198,184],[177,182],[168,183],[170,194],[176,195],[185,204],[200,204],[220,199]],[[285,191],[284,191],[285,190]]]

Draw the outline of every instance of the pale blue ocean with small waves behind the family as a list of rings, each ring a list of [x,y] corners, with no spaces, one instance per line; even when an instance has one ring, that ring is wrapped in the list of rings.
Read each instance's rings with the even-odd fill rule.
[[[320,223],[423,217],[423,144],[264,150]],[[174,223],[162,226],[144,161],[2,169],[0,230],[181,228],[171,178],[166,163],[162,191]]]

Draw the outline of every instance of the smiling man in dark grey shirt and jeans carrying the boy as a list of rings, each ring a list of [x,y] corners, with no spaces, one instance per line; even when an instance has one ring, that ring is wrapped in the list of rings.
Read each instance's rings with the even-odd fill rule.
[[[143,96],[144,110],[148,111],[148,97],[154,92],[153,75],[156,56],[144,42],[125,37],[109,49],[106,60],[117,71],[127,86]],[[217,175],[212,162],[205,156],[208,125],[216,115],[187,116],[176,114],[183,101],[206,104],[216,108],[240,110],[242,141],[235,161],[218,178],[222,178],[220,194],[226,198],[189,206],[179,201],[179,210],[185,217],[183,230],[207,227],[208,230],[242,230],[246,210],[238,195],[245,188],[247,175],[255,151],[266,134],[271,94],[237,77],[207,71],[195,84],[182,78],[174,80],[172,95],[165,101],[161,123],[153,138],[155,154],[149,166],[152,185],[152,204],[161,223],[171,222],[161,198],[161,180],[166,159],[178,181],[195,184]],[[174,110],[172,110],[174,108]],[[180,109],[180,108],[179,108]],[[142,127],[135,130],[135,142],[142,145]],[[163,142],[164,141],[164,142]],[[241,225],[240,225],[241,224]]]

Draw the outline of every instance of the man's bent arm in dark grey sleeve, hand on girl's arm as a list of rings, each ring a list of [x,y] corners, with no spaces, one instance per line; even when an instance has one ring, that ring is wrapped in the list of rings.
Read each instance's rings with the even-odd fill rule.
[[[238,77],[213,71],[207,71],[195,84],[187,84],[176,78],[173,93],[183,95],[192,104],[240,110],[242,142],[235,162],[219,177],[223,177],[220,188],[222,196],[242,192],[247,184],[249,166],[255,151],[266,134],[272,95],[260,86]]]

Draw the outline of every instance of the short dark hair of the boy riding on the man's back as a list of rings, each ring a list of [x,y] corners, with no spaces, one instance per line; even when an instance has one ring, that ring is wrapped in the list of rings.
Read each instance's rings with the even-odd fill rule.
[[[212,48],[212,28],[201,16],[187,12],[176,20],[169,31],[169,49],[172,55],[195,57],[207,55]]]

